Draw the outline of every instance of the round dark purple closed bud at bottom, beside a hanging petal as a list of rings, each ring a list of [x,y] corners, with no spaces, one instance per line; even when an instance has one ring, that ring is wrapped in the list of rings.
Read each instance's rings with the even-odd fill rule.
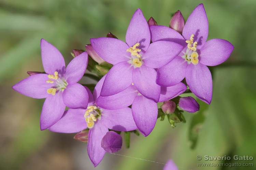
[[[118,152],[122,144],[122,137],[114,131],[107,132],[101,140],[101,147],[108,153]]]

